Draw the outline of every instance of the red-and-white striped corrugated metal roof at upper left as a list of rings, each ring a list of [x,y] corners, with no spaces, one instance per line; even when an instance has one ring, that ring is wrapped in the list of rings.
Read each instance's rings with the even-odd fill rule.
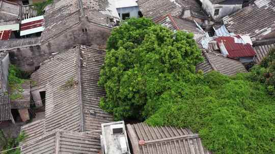
[[[22,20],[21,22],[20,36],[41,32],[44,29],[45,28],[44,28],[43,16],[25,19],[25,20]]]

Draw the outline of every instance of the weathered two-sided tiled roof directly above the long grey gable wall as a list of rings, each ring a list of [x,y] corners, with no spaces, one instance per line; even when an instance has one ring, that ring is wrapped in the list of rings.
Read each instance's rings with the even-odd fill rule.
[[[45,9],[42,42],[47,42],[78,25],[85,16],[91,23],[112,27],[109,18],[119,17],[111,2],[113,3],[111,0],[54,0],[53,4]]]

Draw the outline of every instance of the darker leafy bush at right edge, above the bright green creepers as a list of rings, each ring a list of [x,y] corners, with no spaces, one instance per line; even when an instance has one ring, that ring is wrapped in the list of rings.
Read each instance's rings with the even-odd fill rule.
[[[275,96],[275,49],[270,50],[260,65],[251,69],[251,80],[265,84],[269,94]]]

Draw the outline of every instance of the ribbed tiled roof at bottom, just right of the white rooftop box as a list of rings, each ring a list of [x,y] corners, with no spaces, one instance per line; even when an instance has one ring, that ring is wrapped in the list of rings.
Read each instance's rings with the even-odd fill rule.
[[[145,123],[127,125],[133,153],[178,153],[206,154],[206,150],[198,134],[189,129],[174,127],[151,127]],[[139,144],[144,141],[144,145]]]

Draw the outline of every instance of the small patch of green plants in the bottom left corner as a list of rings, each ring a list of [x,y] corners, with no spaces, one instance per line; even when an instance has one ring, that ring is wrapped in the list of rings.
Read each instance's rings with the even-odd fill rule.
[[[17,138],[13,138],[5,136],[3,131],[0,129],[0,147],[2,147],[2,149],[0,148],[0,151],[5,151],[2,152],[3,154],[20,154],[20,147],[15,147],[18,147],[19,143],[25,138],[26,135],[24,132],[21,132]]]

